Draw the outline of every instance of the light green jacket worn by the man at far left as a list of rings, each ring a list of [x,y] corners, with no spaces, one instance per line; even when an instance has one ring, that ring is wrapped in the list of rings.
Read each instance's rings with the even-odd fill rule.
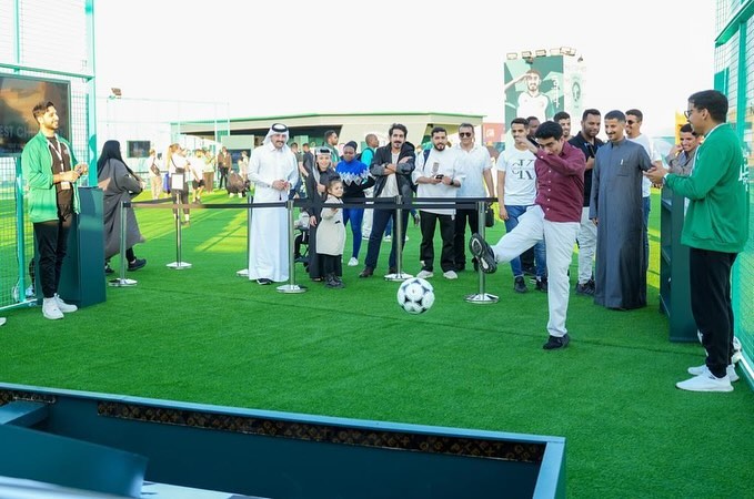
[[[77,161],[68,141],[58,138],[71,154],[71,167]],[[29,218],[32,223],[58,220],[58,194],[52,183],[52,153],[47,138],[39,132],[31,138],[21,152],[21,170],[29,186]],[[74,185],[76,187],[76,185]],[[73,212],[79,213],[79,190],[73,189]]]

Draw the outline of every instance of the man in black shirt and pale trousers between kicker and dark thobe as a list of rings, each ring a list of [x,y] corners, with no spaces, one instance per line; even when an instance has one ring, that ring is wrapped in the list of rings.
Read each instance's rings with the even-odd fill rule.
[[[594,170],[594,156],[597,150],[604,145],[597,133],[600,133],[602,115],[596,109],[587,109],[582,113],[581,132],[569,143],[581,149],[586,157],[586,170],[584,171],[584,206],[581,213],[581,227],[579,228],[579,281],[576,283],[576,294],[594,296],[594,253],[597,245],[597,227],[589,217],[589,204],[592,198],[592,170]]]

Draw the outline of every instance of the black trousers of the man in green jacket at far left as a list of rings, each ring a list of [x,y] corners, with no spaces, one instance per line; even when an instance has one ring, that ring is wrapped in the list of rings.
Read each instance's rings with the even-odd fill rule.
[[[72,222],[73,215],[68,215],[63,218],[34,224],[36,259],[39,262],[39,282],[46,298],[52,298],[58,293],[60,268],[68,249],[68,232]]]

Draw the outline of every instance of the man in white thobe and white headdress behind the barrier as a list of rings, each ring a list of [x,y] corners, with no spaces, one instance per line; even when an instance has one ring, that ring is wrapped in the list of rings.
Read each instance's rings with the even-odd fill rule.
[[[299,181],[299,164],[286,145],[288,126],[275,123],[264,142],[251,152],[249,180],[254,184],[254,203],[288,200]],[[288,281],[288,212],[285,207],[254,210],[251,217],[249,278],[261,285]]]

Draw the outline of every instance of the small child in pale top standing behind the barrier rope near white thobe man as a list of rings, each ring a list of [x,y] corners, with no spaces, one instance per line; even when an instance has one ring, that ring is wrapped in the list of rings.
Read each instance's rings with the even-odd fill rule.
[[[343,182],[334,177],[328,183],[328,198],[325,203],[343,203]],[[324,271],[326,287],[343,287],[341,281],[343,265],[343,247],[345,246],[345,227],[343,226],[343,210],[340,207],[323,207],[319,227],[316,228],[316,253]]]

